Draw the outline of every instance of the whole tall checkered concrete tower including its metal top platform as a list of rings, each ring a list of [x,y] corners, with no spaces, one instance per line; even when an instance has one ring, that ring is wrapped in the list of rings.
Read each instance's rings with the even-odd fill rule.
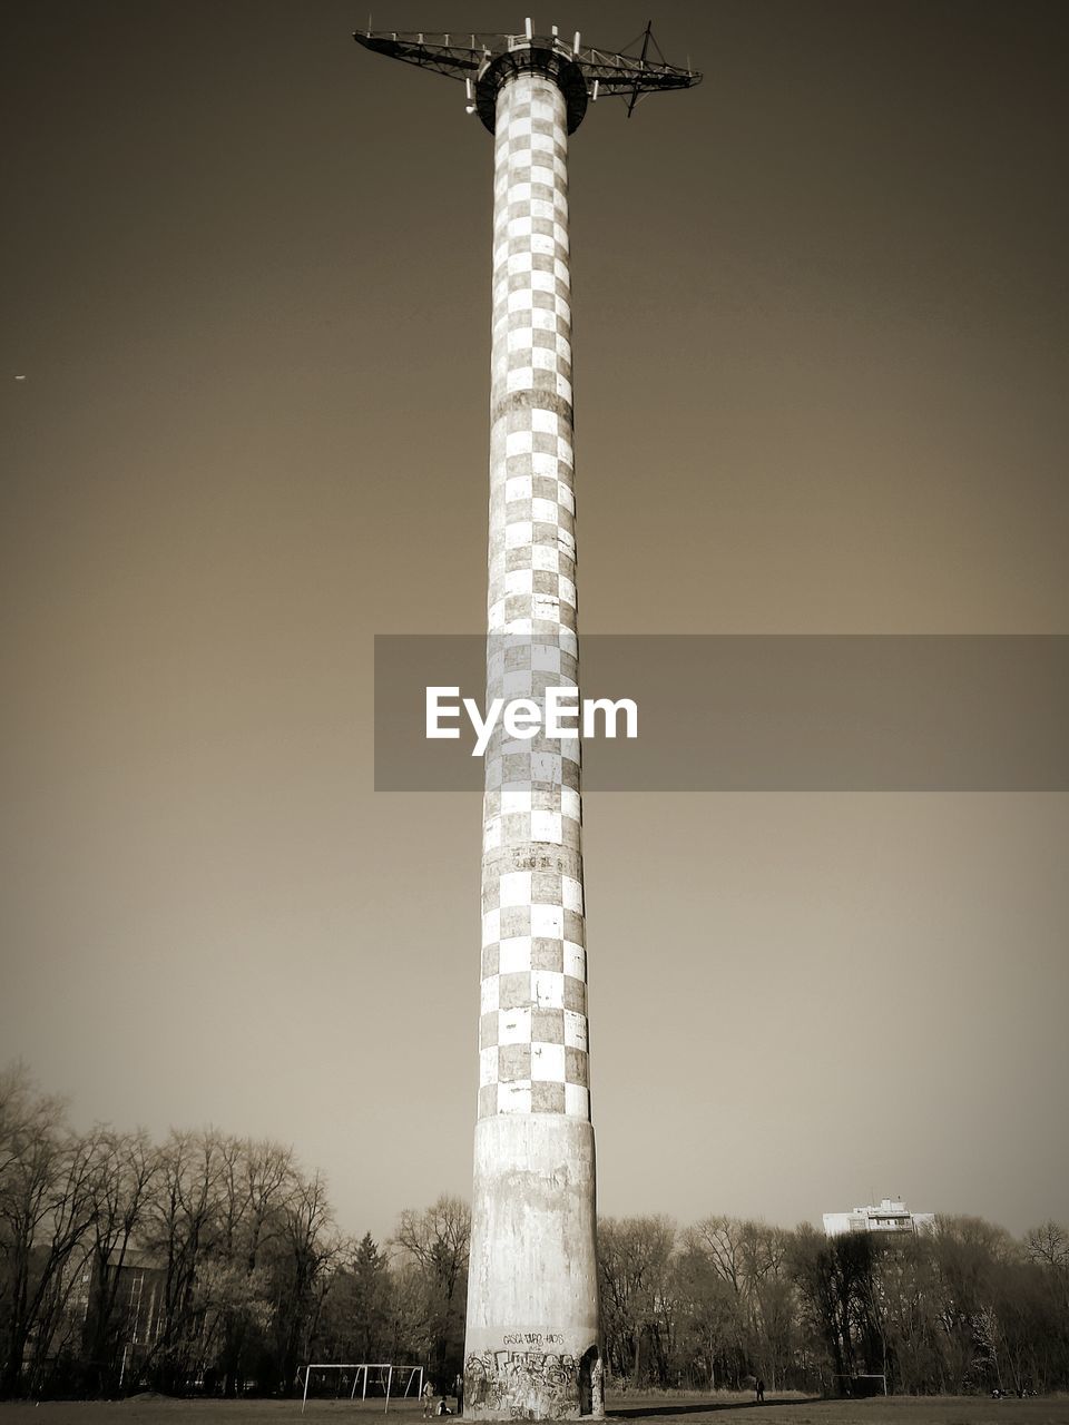
[[[463,78],[495,135],[487,704],[579,685],[567,142],[700,76],[557,36],[361,33]],[[456,41],[460,43],[456,43]],[[465,44],[465,40],[470,43]],[[465,1414],[600,1416],[579,738],[486,752]]]

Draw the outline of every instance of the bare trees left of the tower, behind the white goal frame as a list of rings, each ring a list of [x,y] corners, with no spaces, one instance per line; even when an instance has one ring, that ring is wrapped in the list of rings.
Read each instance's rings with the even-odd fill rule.
[[[339,1231],[294,1150],[215,1130],[77,1133],[0,1072],[0,1398],[292,1394],[319,1361],[460,1368],[468,1204]]]

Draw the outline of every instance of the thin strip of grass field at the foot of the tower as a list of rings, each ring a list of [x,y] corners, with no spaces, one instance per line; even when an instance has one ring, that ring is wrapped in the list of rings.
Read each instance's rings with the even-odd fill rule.
[[[606,1415],[619,1425],[653,1421],[654,1425],[1069,1425],[1069,1396],[1028,1401],[992,1401],[986,1396],[907,1395],[871,1401],[767,1399],[723,1396],[703,1401],[664,1395],[610,1398]],[[46,1401],[0,1405],[0,1425],[296,1425],[301,1401],[168,1401],[133,1396],[127,1401]],[[308,1425],[373,1425],[383,1419],[381,1404],[309,1401]],[[415,1425],[418,1405],[391,1406],[395,1425]]]

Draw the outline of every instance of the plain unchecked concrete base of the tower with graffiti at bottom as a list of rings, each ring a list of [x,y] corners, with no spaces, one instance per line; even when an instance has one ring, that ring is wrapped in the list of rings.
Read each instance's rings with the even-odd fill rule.
[[[604,1416],[594,1130],[515,1113],[475,1129],[465,1415]]]

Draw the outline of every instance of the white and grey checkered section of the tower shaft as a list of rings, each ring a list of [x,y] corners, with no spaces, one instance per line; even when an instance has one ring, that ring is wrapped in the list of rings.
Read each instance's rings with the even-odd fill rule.
[[[497,94],[487,703],[577,685],[567,115]],[[486,752],[479,1117],[590,1117],[579,738]]]

